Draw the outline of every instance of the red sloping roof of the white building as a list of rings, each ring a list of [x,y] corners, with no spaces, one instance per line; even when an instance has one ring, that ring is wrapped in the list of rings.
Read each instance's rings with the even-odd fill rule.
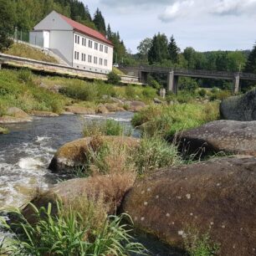
[[[65,22],[69,23],[69,25],[74,28],[75,30],[79,31],[80,33],[84,33],[92,38],[96,38],[102,42],[105,42],[106,44],[110,44],[110,45],[113,45],[110,40],[108,40],[107,38],[105,38],[105,35],[103,35],[102,33],[96,31],[95,29],[93,28],[89,28],[89,27],[86,27],[84,26],[83,24],[81,23],[77,23],[75,22],[73,19],[71,18],[68,18],[68,17],[65,17],[64,15],[62,14],[59,14],[61,16],[61,18],[64,19]]]

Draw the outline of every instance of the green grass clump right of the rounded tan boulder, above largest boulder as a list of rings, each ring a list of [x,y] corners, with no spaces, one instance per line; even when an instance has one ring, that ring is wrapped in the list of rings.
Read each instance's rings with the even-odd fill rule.
[[[144,136],[134,156],[138,174],[151,172],[152,170],[172,166],[181,162],[177,147],[168,144],[159,136]]]

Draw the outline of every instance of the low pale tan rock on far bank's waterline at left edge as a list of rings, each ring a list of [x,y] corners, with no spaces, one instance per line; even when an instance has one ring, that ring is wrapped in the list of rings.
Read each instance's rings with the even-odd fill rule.
[[[0,124],[22,123],[31,121],[32,118],[17,107],[8,108],[6,115],[0,117]]]

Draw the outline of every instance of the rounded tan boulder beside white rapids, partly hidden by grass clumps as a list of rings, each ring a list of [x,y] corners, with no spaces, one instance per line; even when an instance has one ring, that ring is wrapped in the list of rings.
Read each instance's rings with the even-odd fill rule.
[[[118,145],[126,145],[129,147],[138,146],[139,140],[132,137],[121,136],[103,136],[100,138],[103,143],[114,143]],[[96,141],[97,142],[97,141]],[[86,152],[94,147],[95,138],[86,137],[76,141],[66,143],[60,147],[54,155],[49,165],[49,169],[53,172],[74,172],[75,167],[83,166],[87,156]]]

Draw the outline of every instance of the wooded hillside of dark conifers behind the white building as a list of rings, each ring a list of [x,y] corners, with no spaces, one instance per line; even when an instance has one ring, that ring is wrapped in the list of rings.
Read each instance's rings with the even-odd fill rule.
[[[0,50],[8,48],[8,39],[14,33],[14,28],[28,32],[45,16],[55,10],[66,17],[83,23],[103,33],[114,44],[115,56],[125,58],[126,49],[118,32],[112,32],[110,24],[106,26],[105,18],[99,8],[95,14],[79,0],[0,0]]]

